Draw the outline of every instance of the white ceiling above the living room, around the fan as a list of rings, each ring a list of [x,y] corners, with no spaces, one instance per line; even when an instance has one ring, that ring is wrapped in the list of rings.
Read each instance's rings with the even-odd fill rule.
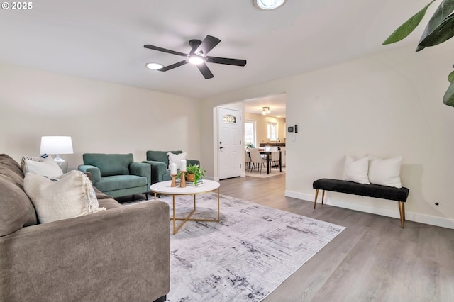
[[[398,45],[381,43],[426,2],[288,0],[275,11],[259,11],[252,0],[40,0],[28,11],[0,11],[0,62],[204,99],[416,45],[417,33]],[[187,53],[189,40],[206,35],[221,39],[209,55],[248,64],[208,63],[213,79],[193,65],[167,72],[145,68],[182,57],[143,45]]]

